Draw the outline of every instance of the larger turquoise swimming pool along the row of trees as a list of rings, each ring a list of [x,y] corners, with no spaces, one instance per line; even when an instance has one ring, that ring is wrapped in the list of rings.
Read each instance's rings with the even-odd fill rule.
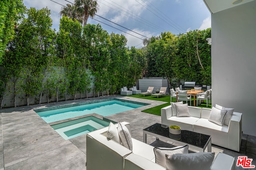
[[[46,121],[51,123],[72,117],[88,115],[90,113],[97,113],[102,116],[108,116],[122,111],[128,111],[138,107],[146,106],[148,104],[141,102],[132,102],[129,100],[122,100],[111,98],[106,100],[93,101],[94,103],[84,102],[78,104],[70,104],[58,107],[48,107],[43,109],[34,109],[36,113]]]

